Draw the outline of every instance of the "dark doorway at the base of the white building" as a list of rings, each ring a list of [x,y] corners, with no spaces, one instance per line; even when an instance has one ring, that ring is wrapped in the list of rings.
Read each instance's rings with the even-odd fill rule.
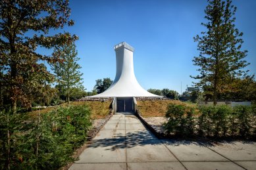
[[[117,110],[116,112],[133,112],[132,97],[118,97],[116,98]]]

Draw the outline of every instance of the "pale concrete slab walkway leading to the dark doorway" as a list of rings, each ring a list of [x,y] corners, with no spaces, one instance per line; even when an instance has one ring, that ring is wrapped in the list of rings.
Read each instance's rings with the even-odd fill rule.
[[[159,140],[136,116],[116,114],[70,169],[256,169],[256,143]]]

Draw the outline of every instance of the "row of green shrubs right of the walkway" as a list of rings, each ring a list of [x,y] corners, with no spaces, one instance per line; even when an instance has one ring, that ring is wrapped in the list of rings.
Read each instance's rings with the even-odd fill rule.
[[[255,137],[255,106],[190,106],[170,104],[167,133],[178,136]]]

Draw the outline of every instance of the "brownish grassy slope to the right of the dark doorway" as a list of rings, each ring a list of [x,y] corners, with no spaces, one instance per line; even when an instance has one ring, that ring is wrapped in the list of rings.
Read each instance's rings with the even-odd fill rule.
[[[170,103],[193,106],[179,100],[138,100],[138,109],[143,117],[165,116],[167,106]]]

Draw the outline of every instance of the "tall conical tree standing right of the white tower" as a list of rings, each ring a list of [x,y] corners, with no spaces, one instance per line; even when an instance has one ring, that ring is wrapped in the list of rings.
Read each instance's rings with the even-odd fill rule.
[[[193,78],[199,79],[197,87],[209,90],[206,93],[212,95],[216,104],[221,88],[234,77],[245,74],[242,69],[248,65],[243,60],[247,51],[241,49],[243,33],[235,28],[236,7],[231,5],[232,1],[208,0],[208,3],[205,9],[208,22],[201,24],[207,31],[194,37],[200,53],[193,59],[194,65],[199,66],[199,75]]]

